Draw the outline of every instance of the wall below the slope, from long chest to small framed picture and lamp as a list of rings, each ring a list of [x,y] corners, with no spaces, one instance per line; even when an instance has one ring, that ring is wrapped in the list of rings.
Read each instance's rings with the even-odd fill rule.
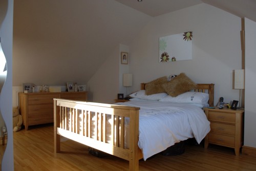
[[[129,73],[129,64],[121,64],[121,52],[128,53],[130,63],[129,46],[119,44],[87,83],[89,101],[113,104],[118,93],[126,95],[126,87],[123,87],[123,74]]]

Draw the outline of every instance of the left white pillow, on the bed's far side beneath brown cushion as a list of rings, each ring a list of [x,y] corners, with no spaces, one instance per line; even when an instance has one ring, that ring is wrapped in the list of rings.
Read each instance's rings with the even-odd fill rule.
[[[166,94],[165,92],[146,95],[145,90],[139,90],[139,91],[136,91],[136,92],[130,94],[130,97],[144,99],[144,100],[158,101],[160,99],[163,99],[163,97],[165,97],[167,95],[168,94]]]

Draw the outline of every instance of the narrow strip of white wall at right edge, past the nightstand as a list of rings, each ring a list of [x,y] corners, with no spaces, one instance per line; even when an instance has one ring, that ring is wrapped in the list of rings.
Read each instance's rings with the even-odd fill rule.
[[[245,18],[245,126],[244,145],[256,148],[256,22]]]

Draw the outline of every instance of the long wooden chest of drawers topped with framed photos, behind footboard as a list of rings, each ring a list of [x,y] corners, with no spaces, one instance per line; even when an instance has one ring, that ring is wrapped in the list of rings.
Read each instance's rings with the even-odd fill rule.
[[[87,92],[18,93],[25,130],[31,125],[53,123],[53,99],[86,101]]]

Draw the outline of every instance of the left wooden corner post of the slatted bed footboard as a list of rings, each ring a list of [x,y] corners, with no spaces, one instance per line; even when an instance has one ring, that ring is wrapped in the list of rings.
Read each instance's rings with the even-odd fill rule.
[[[54,154],[60,152],[60,135],[57,134],[57,127],[59,127],[59,111],[60,107],[57,106],[57,99],[53,100],[54,103]]]

